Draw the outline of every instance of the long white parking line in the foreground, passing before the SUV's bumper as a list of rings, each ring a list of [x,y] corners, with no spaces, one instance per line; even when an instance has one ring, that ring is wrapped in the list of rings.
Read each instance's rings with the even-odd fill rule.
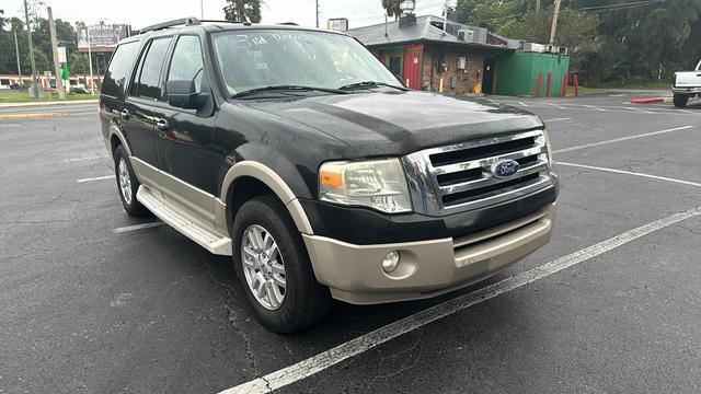
[[[368,351],[401,335],[423,327],[426,324],[433,323],[439,318],[460,312],[464,309],[476,305],[497,296],[507,293],[512,290],[519,289],[536,280],[547,278],[553,274],[560,273],[563,269],[570,268],[582,262],[586,262],[593,257],[599,256],[602,253],[622,246],[631,241],[637,240],[641,236],[651,234],[655,231],[659,231],[664,228],[699,215],[701,215],[701,207],[697,207],[685,212],[675,213],[667,218],[641,225],[620,235],[613,236],[606,241],[601,241],[589,247],[583,248],[564,257],[560,257],[550,263],[545,263],[541,266],[529,269],[517,276],[501,280],[480,290],[455,298],[441,304],[428,308],[418,313],[401,318],[394,323],[388,324],[368,334],[364,334],[355,339],[338,345],[317,356],[302,360],[296,364],[268,373],[265,376],[257,378],[250,382],[240,384],[235,387],[225,390],[220,394],[271,393],[274,390],[281,389],[286,385],[309,378],[318,372],[337,364],[338,362]]]

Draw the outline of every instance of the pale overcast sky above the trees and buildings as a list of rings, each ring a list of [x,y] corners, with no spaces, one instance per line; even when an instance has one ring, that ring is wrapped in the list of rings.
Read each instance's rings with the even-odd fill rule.
[[[54,18],[71,23],[127,23],[134,28],[184,16],[200,18],[200,0],[44,0],[54,10]],[[221,9],[226,0],[202,0],[205,19],[223,19]],[[295,22],[314,26],[315,0],[264,0],[263,23]],[[416,0],[416,14],[440,15],[445,0]],[[455,0],[452,0],[455,2]],[[384,21],[381,0],[319,0],[320,25],[331,18],[347,18],[349,27],[359,27]],[[5,16],[24,19],[22,0],[0,0]],[[46,16],[46,11],[44,11]]]

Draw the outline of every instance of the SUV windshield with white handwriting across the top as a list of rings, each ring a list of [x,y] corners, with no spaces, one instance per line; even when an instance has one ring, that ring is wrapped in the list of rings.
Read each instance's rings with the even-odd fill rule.
[[[277,85],[338,89],[368,81],[401,85],[365,47],[340,34],[222,32],[214,35],[214,48],[229,95]]]

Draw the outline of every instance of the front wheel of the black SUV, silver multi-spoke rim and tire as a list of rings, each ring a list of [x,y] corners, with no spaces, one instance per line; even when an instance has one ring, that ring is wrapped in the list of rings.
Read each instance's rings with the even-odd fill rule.
[[[321,320],[331,305],[287,209],[274,196],[246,201],[233,221],[233,267],[268,329],[291,333]]]

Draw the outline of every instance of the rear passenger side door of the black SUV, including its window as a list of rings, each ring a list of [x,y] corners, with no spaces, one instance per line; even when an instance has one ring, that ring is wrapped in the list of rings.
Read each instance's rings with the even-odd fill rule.
[[[158,157],[156,153],[156,107],[163,100],[161,73],[172,36],[150,39],[145,46],[139,65],[133,76],[124,109],[123,130],[131,144],[131,164],[139,179],[150,186],[158,185]]]

